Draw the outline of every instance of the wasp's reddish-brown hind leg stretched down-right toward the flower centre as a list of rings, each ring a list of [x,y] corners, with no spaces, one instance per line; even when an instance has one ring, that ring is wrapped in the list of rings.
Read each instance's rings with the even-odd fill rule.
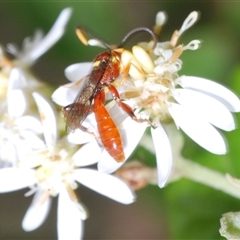
[[[132,110],[132,108],[128,104],[122,102],[122,100],[120,99],[120,96],[119,96],[119,93],[118,93],[117,89],[113,85],[109,85],[108,89],[109,89],[113,99],[118,104],[118,106],[120,108],[122,108],[122,110],[124,112],[126,112],[134,121],[136,121],[136,122],[147,122],[152,128],[156,128],[156,126],[150,120],[145,119],[145,118],[138,118],[135,115],[135,113]]]

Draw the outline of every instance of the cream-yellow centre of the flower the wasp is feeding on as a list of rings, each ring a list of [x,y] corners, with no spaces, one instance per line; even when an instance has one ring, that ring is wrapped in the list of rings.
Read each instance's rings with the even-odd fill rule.
[[[164,63],[162,70],[155,71],[152,59],[143,48],[134,46],[133,53],[126,51],[123,58],[123,64],[130,62],[132,65],[129,71],[130,78],[125,84],[126,90],[121,93],[121,97],[131,100],[133,106],[144,110],[150,119],[169,122],[171,116],[168,112],[168,102],[173,100],[171,89],[175,88],[175,79],[178,76],[166,70],[166,67],[172,67],[172,63],[167,62],[167,66]],[[144,75],[136,73],[138,69],[141,69],[140,73],[143,71]]]

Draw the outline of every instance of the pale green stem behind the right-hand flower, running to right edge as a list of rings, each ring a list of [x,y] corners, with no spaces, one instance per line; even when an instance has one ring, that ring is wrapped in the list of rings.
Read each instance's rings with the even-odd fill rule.
[[[172,146],[173,153],[173,168],[168,182],[173,182],[180,178],[187,178],[240,199],[240,180],[234,179],[230,183],[230,181],[228,181],[229,178],[226,178],[226,174],[183,158],[181,151],[184,140],[181,132],[177,130],[174,124],[164,125],[164,128]],[[150,138],[150,136],[145,135],[141,140],[141,144],[150,152],[155,153],[153,146],[150,144]],[[157,170],[154,170],[152,174],[151,184],[157,184],[157,178],[155,179],[155,176],[157,176],[156,171]]]

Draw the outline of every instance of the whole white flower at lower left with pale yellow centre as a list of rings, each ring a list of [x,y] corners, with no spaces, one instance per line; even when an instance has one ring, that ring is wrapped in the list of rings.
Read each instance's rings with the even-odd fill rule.
[[[82,150],[75,151],[76,146],[67,144],[65,139],[57,140],[52,107],[40,94],[33,93],[33,96],[42,119],[46,146],[25,156],[19,168],[0,169],[0,192],[31,188],[26,195],[34,193],[34,197],[22,222],[26,231],[32,231],[43,223],[51,197],[58,195],[58,238],[80,239],[82,220],[87,218],[87,212],[74,193],[77,182],[123,204],[132,203],[135,196],[120,179],[93,169],[79,168],[88,164],[85,159],[89,156],[82,156]]]

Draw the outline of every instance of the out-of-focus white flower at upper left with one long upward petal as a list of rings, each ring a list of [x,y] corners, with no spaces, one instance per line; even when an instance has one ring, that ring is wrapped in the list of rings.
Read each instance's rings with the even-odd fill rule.
[[[6,51],[14,56],[13,60],[6,56],[3,47],[0,46],[0,100],[5,100],[9,84],[14,84],[15,89],[28,89],[31,92],[41,87],[30,72],[30,67],[62,37],[71,12],[71,8],[64,9],[45,36],[41,30],[37,30],[32,39],[26,38],[22,50],[14,44],[8,44]]]

